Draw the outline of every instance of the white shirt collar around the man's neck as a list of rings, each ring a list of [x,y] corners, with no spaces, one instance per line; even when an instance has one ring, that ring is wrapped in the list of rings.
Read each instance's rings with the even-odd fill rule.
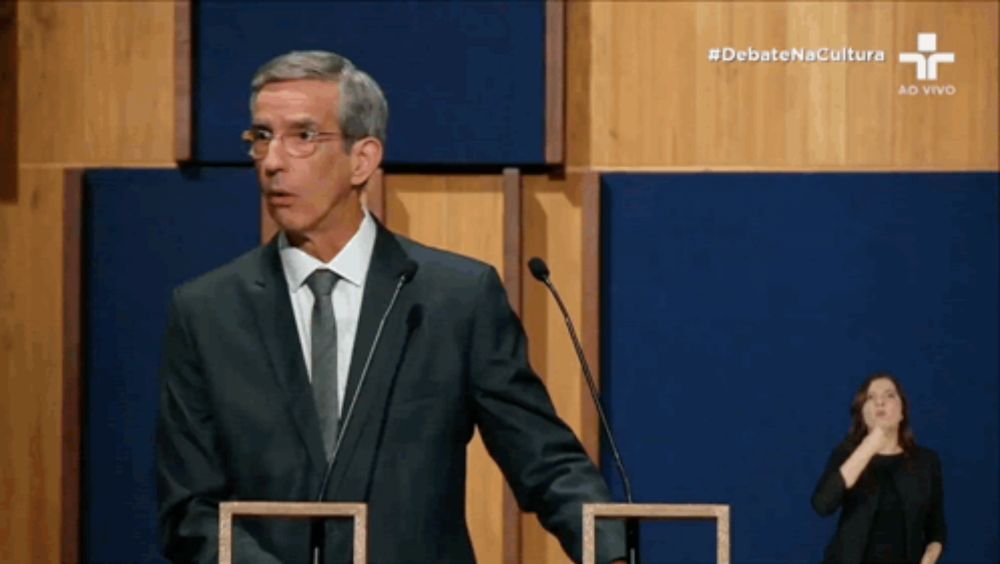
[[[357,232],[330,262],[322,262],[302,249],[291,246],[283,231],[278,235],[278,254],[281,256],[285,280],[292,292],[297,292],[305,284],[306,278],[309,278],[317,268],[332,270],[341,280],[364,288],[372,251],[375,250],[375,235],[378,232],[371,213],[368,210],[364,212],[364,218]]]

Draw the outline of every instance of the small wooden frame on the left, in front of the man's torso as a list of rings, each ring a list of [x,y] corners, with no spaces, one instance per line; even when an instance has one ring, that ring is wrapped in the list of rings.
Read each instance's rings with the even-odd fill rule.
[[[354,520],[354,563],[368,561],[368,506],[364,503],[225,501],[219,504],[219,564],[233,562],[234,517],[350,517]]]

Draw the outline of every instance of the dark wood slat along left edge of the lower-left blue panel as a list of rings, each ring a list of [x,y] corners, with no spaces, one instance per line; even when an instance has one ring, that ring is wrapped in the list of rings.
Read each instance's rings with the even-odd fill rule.
[[[63,370],[61,562],[80,561],[83,171],[63,174]]]

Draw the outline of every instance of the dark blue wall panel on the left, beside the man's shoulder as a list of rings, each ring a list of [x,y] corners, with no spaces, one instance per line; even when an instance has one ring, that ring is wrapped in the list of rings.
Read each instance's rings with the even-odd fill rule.
[[[159,560],[154,427],[171,289],[255,247],[250,169],[95,170],[84,196],[87,562]]]

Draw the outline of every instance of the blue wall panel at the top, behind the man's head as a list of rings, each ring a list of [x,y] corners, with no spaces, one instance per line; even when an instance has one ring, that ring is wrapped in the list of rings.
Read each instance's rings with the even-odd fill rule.
[[[194,18],[196,161],[247,162],[254,72],[323,49],[382,86],[387,162],[545,162],[544,2],[206,0]]]

